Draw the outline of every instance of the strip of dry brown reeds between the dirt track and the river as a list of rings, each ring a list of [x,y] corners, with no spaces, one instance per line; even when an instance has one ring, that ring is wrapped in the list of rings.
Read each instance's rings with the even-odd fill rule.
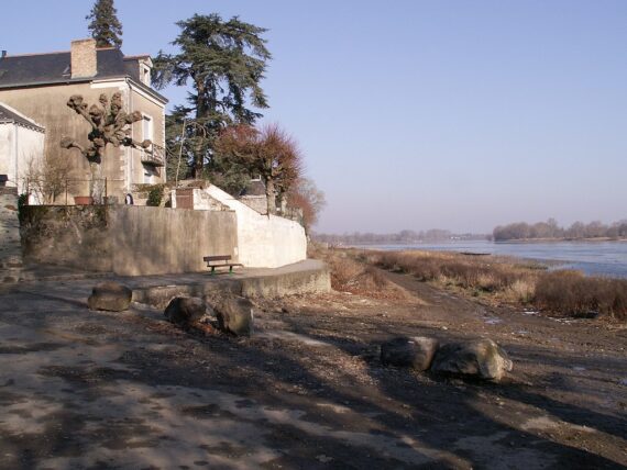
[[[575,270],[548,270],[541,262],[493,255],[372,249],[339,253],[344,258],[410,275],[485,304],[507,304],[551,315],[627,321],[626,279],[586,277]]]

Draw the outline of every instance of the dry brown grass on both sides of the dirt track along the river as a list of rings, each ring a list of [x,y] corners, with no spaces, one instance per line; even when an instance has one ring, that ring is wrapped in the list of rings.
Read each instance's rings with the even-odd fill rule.
[[[330,266],[331,286],[342,292],[380,299],[406,295],[376,269],[381,268],[411,275],[488,303],[532,305],[569,316],[627,320],[627,280],[586,277],[579,271],[547,271],[543,265],[515,258],[446,251],[312,247],[309,256]]]

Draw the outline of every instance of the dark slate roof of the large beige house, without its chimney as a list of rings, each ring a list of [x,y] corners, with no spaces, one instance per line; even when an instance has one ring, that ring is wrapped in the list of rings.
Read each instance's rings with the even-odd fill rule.
[[[99,48],[96,54],[96,76],[74,79],[69,51],[1,57],[0,89],[129,77],[164,103],[167,102],[162,94],[140,80],[139,61],[146,56],[124,57],[124,54],[114,47]]]

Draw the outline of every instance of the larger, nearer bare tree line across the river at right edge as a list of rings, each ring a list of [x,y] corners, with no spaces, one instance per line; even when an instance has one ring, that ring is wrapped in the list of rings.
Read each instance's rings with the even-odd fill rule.
[[[627,237],[627,220],[614,222],[609,225],[600,221],[593,221],[588,224],[578,221],[568,228],[560,227],[554,219],[535,224],[517,222],[497,226],[493,231],[493,237],[495,242],[535,238],[625,238]]]

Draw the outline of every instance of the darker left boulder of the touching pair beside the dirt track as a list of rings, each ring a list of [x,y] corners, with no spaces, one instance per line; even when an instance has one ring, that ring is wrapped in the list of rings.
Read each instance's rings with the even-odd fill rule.
[[[381,345],[381,362],[384,366],[427,370],[431,366],[438,344],[436,338],[425,336],[394,338]]]

